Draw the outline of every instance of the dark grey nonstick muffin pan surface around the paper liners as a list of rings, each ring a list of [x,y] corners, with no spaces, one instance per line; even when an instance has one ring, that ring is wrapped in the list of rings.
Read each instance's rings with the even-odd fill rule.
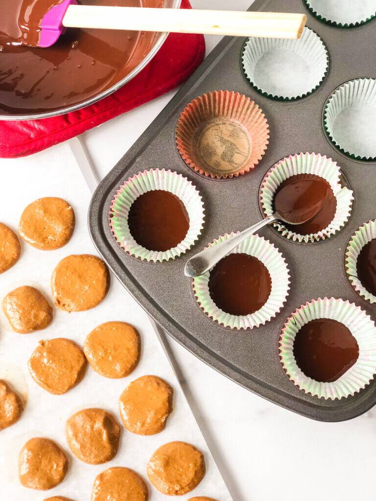
[[[351,79],[376,77],[376,23],[335,28],[313,17],[301,0],[256,0],[252,10],[306,12],[307,26],[318,34],[329,54],[324,81],[301,99],[270,99],[253,88],[243,74],[240,61],[245,40],[225,38],[100,183],[89,208],[89,228],[100,254],[125,288],[174,339],[200,359],[294,412],[321,421],[350,419],[376,403],[376,380],[347,398],[313,397],[299,390],[287,376],[278,343],[291,314],[319,297],[348,300],[376,319],[375,306],[352,289],[344,266],[351,235],[375,217],[376,164],[341,153],[322,124],[324,104],[334,89]],[[231,179],[212,179],[195,172],[184,163],[175,144],[176,124],[183,109],[198,96],[215,90],[250,97],[265,114],[270,128],[268,148],[259,164]],[[282,158],[300,152],[315,152],[337,162],[343,173],[341,181],[353,190],[351,215],[335,235],[314,243],[287,240],[272,227],[260,230],[259,235],[278,247],[288,264],[291,284],[287,301],[265,325],[247,330],[225,328],[200,309],[192,281],[183,273],[185,262],[219,235],[257,222],[262,215],[259,193],[265,174]],[[115,240],[109,224],[117,189],[128,178],[151,168],[181,173],[197,187],[205,206],[199,240],[186,254],[164,263],[147,263],[129,256]]]

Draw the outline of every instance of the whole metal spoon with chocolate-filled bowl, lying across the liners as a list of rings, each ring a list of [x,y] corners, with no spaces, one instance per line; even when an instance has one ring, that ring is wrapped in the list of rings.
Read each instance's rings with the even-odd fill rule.
[[[274,198],[274,213],[253,226],[241,231],[228,240],[208,247],[189,259],[184,268],[186,277],[199,277],[211,270],[222,258],[245,238],[275,220],[286,224],[303,224],[313,219],[324,207],[326,198],[332,193],[330,185],[301,179],[288,183],[277,191]]]

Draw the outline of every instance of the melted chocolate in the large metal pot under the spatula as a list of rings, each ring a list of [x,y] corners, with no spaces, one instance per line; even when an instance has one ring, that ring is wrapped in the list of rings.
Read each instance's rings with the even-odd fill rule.
[[[52,47],[22,45],[38,41],[39,34],[32,27],[40,22],[46,5],[58,3],[0,0],[0,114],[53,112],[93,98],[125,78],[156,40],[155,33],[69,28]],[[141,0],[79,3],[141,7]],[[162,5],[163,0],[142,0],[143,7]],[[30,19],[31,12],[35,19]]]

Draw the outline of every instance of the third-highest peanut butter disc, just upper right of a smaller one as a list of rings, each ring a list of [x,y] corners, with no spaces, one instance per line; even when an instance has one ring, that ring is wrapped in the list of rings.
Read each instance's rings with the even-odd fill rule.
[[[67,312],[89,310],[105,298],[110,285],[107,266],[96,256],[67,256],[51,277],[55,304]]]

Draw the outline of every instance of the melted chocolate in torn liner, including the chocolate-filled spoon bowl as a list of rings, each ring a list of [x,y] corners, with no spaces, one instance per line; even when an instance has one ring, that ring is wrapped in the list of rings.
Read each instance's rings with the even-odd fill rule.
[[[285,179],[274,196],[274,210],[290,221],[302,224],[286,224],[287,229],[307,235],[325,229],[333,220],[337,201],[330,184],[314,174],[296,174]]]

